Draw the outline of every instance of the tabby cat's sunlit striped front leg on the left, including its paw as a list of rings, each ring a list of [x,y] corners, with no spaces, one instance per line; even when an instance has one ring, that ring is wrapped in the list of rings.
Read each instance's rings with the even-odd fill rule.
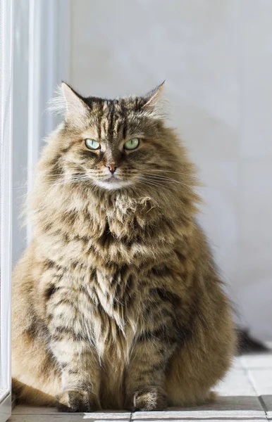
[[[61,292],[61,289],[59,290]],[[86,331],[80,309],[68,295],[58,290],[51,295],[47,312],[49,346],[61,369],[58,407],[65,411],[92,411],[100,408],[101,373],[97,350]]]

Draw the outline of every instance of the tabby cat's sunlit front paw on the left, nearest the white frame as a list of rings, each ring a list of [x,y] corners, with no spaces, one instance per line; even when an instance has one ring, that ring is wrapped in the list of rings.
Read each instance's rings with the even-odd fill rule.
[[[94,411],[100,409],[99,399],[85,390],[64,390],[57,397],[58,411]]]

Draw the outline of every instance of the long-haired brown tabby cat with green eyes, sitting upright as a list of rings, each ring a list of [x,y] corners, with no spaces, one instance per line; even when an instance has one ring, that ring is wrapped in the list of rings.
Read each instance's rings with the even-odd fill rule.
[[[146,96],[84,98],[42,151],[13,279],[13,390],[66,411],[205,402],[235,349],[194,167]]]

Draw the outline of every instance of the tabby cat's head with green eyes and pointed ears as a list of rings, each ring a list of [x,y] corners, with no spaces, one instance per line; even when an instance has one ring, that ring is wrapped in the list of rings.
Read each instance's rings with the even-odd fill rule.
[[[82,97],[63,83],[66,111],[56,174],[108,191],[156,186],[171,177],[167,171],[175,167],[177,142],[158,108],[162,87],[107,100]]]

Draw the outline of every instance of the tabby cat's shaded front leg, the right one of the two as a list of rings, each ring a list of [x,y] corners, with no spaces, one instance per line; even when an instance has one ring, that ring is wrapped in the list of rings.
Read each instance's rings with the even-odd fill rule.
[[[125,379],[126,404],[130,410],[161,410],[167,407],[166,365],[175,350],[167,338],[143,338],[135,345]]]

